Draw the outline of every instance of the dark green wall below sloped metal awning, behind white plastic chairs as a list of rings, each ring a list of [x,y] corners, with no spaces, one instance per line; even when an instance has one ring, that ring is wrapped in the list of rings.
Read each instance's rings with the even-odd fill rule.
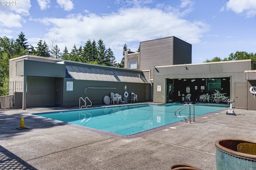
[[[66,82],[73,82],[73,90],[66,90]],[[103,97],[110,96],[110,93],[118,93],[124,98],[124,87],[126,86],[126,91],[129,96],[131,92],[134,92],[138,95],[138,102],[144,102],[145,99],[145,86],[150,84],[141,84],[141,83],[127,83],[127,82],[104,82],[104,81],[86,81],[86,80],[64,80],[64,106],[79,106],[79,98],[88,97],[92,104],[104,104]],[[102,88],[102,89],[93,89],[93,88]],[[86,94],[85,94],[85,89]],[[104,89],[105,88],[105,89]],[[116,88],[116,89],[108,89]],[[82,104],[82,103],[81,103]]]

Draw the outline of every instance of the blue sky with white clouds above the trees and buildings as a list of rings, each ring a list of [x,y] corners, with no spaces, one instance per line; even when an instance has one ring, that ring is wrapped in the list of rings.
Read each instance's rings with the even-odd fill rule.
[[[22,31],[28,43],[60,51],[102,39],[116,61],[123,47],[175,36],[192,44],[192,63],[256,53],[256,0],[0,0],[0,37]]]

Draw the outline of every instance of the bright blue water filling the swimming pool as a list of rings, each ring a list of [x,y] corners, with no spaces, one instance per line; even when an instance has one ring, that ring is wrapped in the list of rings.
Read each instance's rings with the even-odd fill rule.
[[[51,113],[35,113],[35,115],[120,135],[132,135],[184,120],[183,118],[178,118],[174,115],[174,111],[182,105],[183,104],[140,104]],[[194,107],[196,117],[225,109],[229,106],[194,104]],[[190,108],[191,117],[193,117],[193,107]],[[189,107],[182,110],[181,115],[189,116]]]

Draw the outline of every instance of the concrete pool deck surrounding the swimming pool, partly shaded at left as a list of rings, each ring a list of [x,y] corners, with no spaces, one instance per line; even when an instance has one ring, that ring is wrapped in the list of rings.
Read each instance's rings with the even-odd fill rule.
[[[0,169],[168,170],[173,164],[191,164],[214,170],[216,140],[256,141],[256,110],[234,109],[236,115],[217,111],[191,124],[174,125],[176,129],[135,138],[116,138],[31,115],[66,109],[0,109]],[[20,117],[28,129],[16,129]]]

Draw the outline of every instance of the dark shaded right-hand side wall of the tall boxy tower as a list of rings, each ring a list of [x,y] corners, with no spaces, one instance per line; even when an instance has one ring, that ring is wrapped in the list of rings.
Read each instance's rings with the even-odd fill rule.
[[[192,45],[173,37],[173,64],[192,63]]]

